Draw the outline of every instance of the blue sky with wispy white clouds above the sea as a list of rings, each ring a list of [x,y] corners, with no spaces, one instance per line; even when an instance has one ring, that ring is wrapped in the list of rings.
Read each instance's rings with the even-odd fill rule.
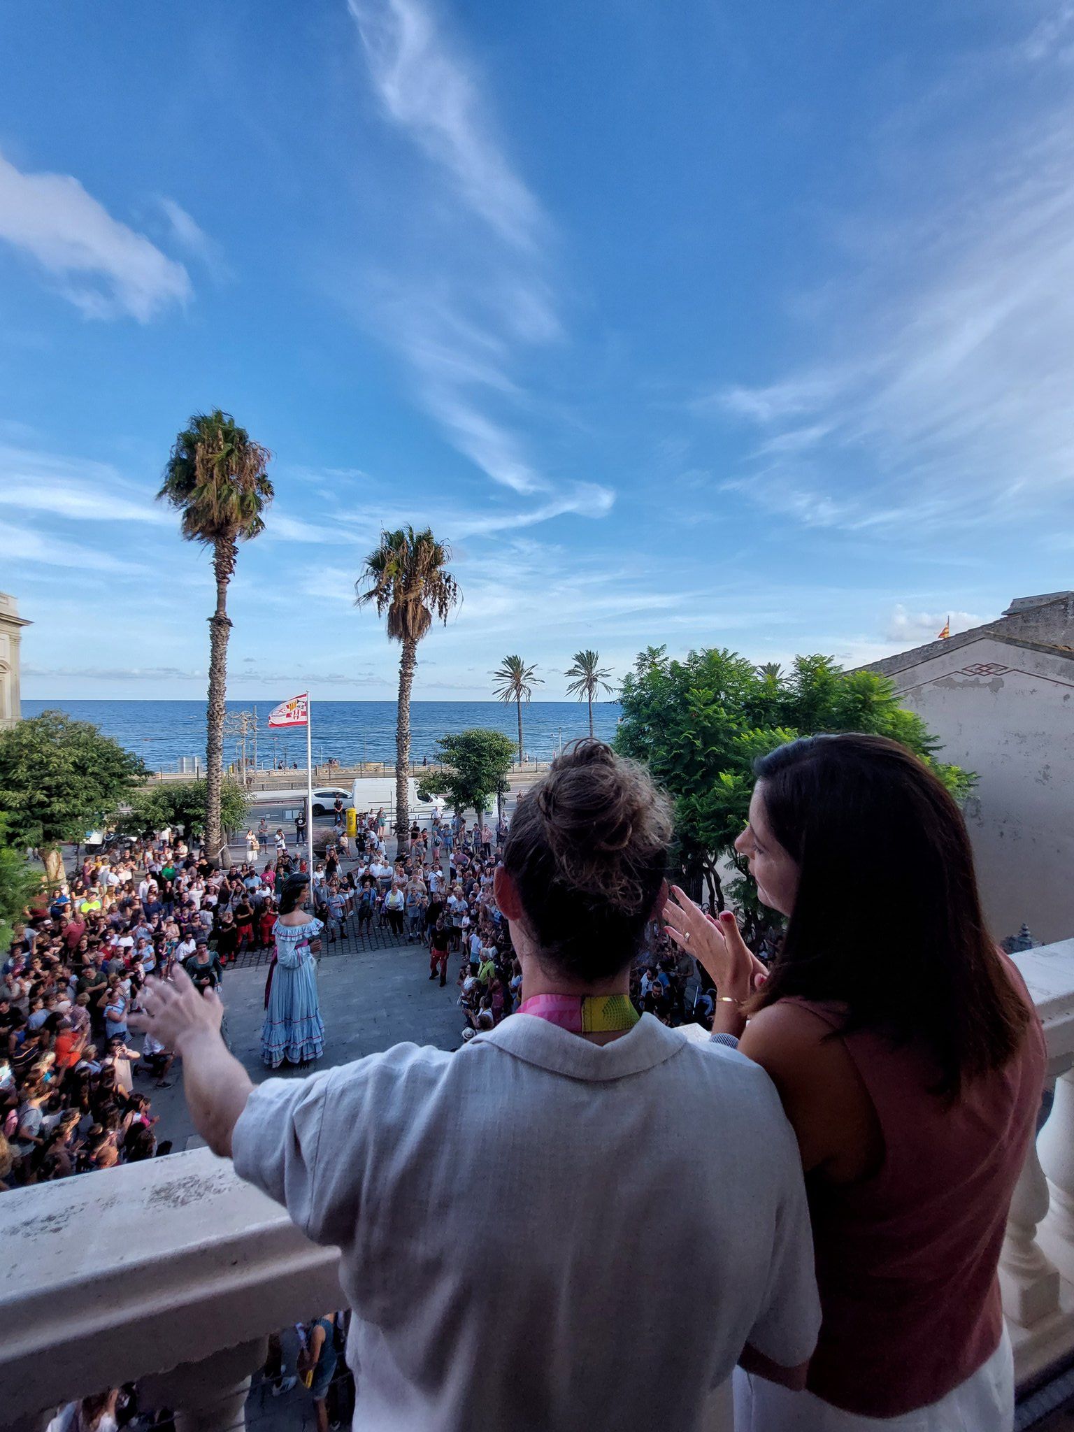
[[[24,695],[205,690],[153,501],[223,407],[276,501],[232,696],[385,699],[352,583],[431,523],[415,696],[597,647],[845,663],[1074,584],[1074,3],[9,6],[0,587]]]

